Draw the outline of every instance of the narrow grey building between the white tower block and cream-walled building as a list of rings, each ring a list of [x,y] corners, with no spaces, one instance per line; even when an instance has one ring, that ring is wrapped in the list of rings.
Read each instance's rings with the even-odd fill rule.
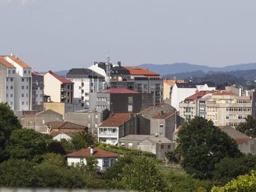
[[[43,75],[32,72],[32,110],[43,111]]]

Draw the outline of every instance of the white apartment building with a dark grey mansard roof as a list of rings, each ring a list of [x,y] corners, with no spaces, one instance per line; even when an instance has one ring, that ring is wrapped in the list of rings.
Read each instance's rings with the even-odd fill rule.
[[[66,78],[74,83],[74,104],[90,109],[90,93],[104,89],[105,77],[90,69],[70,69]]]

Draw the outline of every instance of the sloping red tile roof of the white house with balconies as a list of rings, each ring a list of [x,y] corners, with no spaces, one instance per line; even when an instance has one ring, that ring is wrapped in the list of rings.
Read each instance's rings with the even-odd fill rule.
[[[130,114],[110,114],[100,127],[119,127],[130,119]]]

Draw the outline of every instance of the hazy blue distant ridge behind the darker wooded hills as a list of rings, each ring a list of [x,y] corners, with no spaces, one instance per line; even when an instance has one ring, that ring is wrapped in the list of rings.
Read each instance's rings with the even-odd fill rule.
[[[239,64],[239,65],[229,65],[226,67],[208,67],[206,65],[194,65],[187,63],[174,63],[174,64],[142,64],[139,65],[142,68],[152,70],[153,72],[160,73],[160,75],[167,75],[172,73],[186,73],[186,72],[195,72],[202,71],[207,72],[228,72],[235,70],[250,70],[256,69],[256,63],[250,64]]]

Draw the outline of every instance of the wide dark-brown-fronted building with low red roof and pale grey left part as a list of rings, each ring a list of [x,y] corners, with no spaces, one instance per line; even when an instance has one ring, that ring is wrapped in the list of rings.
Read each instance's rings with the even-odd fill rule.
[[[153,105],[152,94],[123,88],[111,88],[90,94],[92,110],[108,109],[113,113],[137,113]]]

